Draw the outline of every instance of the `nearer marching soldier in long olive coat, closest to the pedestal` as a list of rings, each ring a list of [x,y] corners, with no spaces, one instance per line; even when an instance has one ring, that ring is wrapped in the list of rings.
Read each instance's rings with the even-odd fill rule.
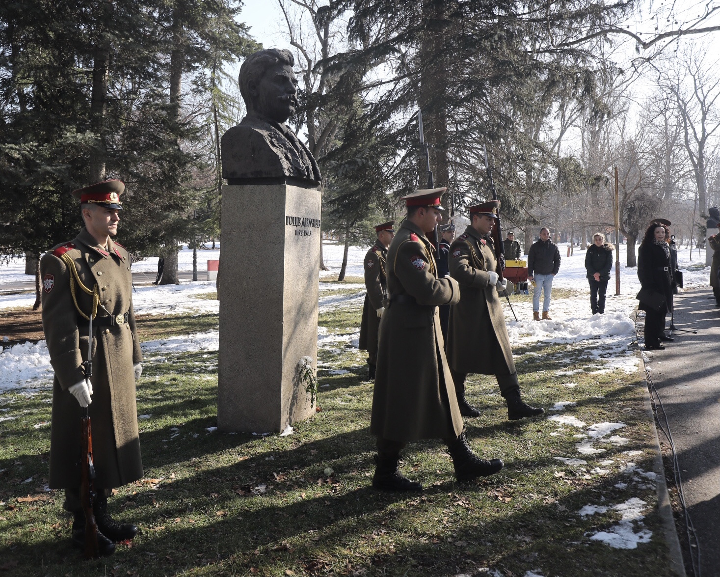
[[[421,491],[397,470],[400,450],[419,439],[443,439],[459,481],[492,475],[503,461],[476,457],[465,437],[445,359],[438,305],[457,303],[457,282],[438,278],[427,233],[441,220],[445,188],[403,197],[408,218],[387,251],[387,310],[380,323],[370,432],[377,437],[375,488]]]

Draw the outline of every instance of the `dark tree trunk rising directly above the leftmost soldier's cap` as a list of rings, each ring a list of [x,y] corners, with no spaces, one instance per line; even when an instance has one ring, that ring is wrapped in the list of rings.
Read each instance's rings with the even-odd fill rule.
[[[107,151],[105,148],[105,115],[107,113],[107,75],[110,59],[109,44],[99,40],[95,47],[92,71],[90,117],[95,143],[90,151],[90,184],[105,179]]]

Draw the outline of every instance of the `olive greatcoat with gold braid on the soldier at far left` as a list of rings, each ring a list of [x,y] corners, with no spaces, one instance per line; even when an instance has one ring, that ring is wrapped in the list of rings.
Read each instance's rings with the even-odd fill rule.
[[[107,250],[106,250],[107,248]],[[82,408],[68,388],[84,380],[88,316],[93,310],[92,424],[96,488],[112,488],[143,476],[132,365],[143,360],[132,310],[130,254],[108,241],[101,247],[83,228],[76,238],[40,260],[42,328],[55,371],[50,431],[50,488],[80,486]],[[78,312],[78,308],[81,312]],[[122,318],[119,316],[122,315]],[[109,316],[114,321],[109,321]]]

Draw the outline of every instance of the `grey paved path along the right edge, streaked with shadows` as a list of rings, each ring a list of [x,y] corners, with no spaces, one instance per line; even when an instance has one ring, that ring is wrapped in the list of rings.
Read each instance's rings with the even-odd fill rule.
[[[675,342],[652,355],[650,374],[678,450],[702,577],[720,577],[720,308],[710,288],[675,297],[675,328],[698,334],[673,332]]]

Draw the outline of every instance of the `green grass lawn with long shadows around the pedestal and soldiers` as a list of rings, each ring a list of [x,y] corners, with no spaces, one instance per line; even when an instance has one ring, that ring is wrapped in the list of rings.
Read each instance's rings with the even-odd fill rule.
[[[209,316],[212,317],[212,316]],[[320,317],[328,332],[357,330],[359,310]],[[166,319],[160,331],[199,330],[200,320]],[[210,318],[202,322],[210,323]],[[217,323],[217,318],[215,318]],[[153,336],[153,338],[156,338]],[[596,370],[588,354],[600,344],[518,349],[523,395],[589,424],[624,421],[623,447],[595,442],[600,455],[578,455],[573,434],[541,418],[506,421],[494,377],[471,375],[469,400],[479,419],[466,419],[474,450],[502,457],[498,475],[454,481],[443,444],[410,444],[402,470],[424,483],[422,494],[377,493],[370,486],[374,439],[369,435],[372,383],[364,352],[343,343],[320,349],[318,401],[323,411],[294,424],[289,437],[209,432],[215,426],[217,354],[155,355],[138,385],[145,480],[119,489],[111,509],[141,533],[112,558],[86,561],[68,546],[69,516],[61,491],[41,493],[48,475],[50,391],[0,395],[0,566],[22,576],[456,576],[492,568],[506,576],[539,570],[545,576],[669,576],[657,503],[651,487],[622,474],[621,460],[652,470],[652,427],[644,412],[642,373]],[[343,368],[344,375],[329,375]],[[555,372],[583,370],[570,376]],[[564,388],[572,380],[577,386]],[[604,398],[598,398],[603,395]],[[24,413],[23,411],[29,411]],[[561,414],[562,414],[561,413]],[[176,428],[176,430],[173,429]],[[173,435],[176,435],[171,439]],[[622,451],[640,450],[628,458]],[[567,466],[554,457],[580,457]],[[590,471],[614,460],[607,475]],[[333,473],[325,473],[332,468]],[[33,475],[30,483],[22,483]],[[625,489],[615,487],[628,483]],[[263,488],[264,486],[264,488]],[[19,497],[46,500],[24,503]],[[580,517],[586,504],[647,501],[644,528],[652,541],[635,550],[611,549],[587,534],[607,529],[617,513]],[[604,501],[603,501],[604,500]]]

